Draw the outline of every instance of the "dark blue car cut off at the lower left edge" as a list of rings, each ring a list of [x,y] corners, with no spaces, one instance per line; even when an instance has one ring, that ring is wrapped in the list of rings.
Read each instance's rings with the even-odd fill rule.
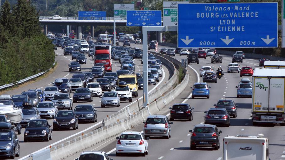
[[[1,154],[0,157],[9,157],[14,159],[20,156],[20,142],[17,134],[12,129],[10,123],[0,123],[0,145]]]

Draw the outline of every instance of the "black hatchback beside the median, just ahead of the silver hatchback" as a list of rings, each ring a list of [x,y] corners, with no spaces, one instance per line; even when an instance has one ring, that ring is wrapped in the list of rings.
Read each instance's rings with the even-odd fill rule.
[[[173,121],[174,119],[186,119],[189,121],[193,120],[193,111],[189,104],[181,103],[181,104],[173,104],[170,107],[170,115],[169,120]]]

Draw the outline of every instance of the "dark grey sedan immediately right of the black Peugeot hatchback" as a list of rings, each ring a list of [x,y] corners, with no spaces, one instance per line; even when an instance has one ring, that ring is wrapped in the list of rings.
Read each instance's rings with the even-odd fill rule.
[[[80,121],[90,121],[92,123],[97,122],[97,109],[94,109],[92,105],[78,105],[74,108],[75,115],[78,116]]]

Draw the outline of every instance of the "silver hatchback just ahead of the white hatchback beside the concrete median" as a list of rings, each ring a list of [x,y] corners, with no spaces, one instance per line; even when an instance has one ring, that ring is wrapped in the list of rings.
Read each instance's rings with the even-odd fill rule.
[[[147,117],[144,126],[145,137],[160,136],[166,139],[171,137],[171,126],[173,122],[169,122],[165,115],[150,115]]]

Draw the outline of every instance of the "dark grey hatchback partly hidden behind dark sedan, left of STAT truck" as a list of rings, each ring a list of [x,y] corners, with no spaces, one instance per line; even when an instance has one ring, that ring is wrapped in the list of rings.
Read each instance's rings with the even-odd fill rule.
[[[217,104],[214,104],[216,108],[225,108],[227,113],[233,118],[237,117],[237,107],[233,100],[219,100]]]

